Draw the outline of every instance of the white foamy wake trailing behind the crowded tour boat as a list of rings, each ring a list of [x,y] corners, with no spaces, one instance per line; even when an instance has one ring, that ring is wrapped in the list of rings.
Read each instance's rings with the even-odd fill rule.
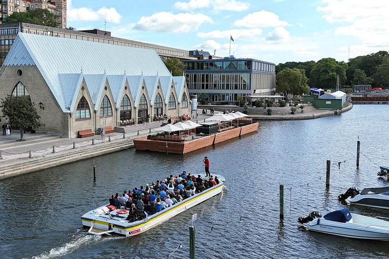
[[[71,252],[73,252],[76,249],[79,249],[80,247],[84,245],[90,245],[93,243],[97,243],[103,240],[110,240],[115,238],[122,238],[122,237],[101,237],[101,236],[94,236],[94,235],[88,235],[87,233],[80,233],[73,236],[73,240],[70,242],[60,246],[52,248],[49,252],[44,252],[37,256],[32,256],[31,259],[48,259],[48,258],[56,258],[61,257],[64,255],[67,255]]]

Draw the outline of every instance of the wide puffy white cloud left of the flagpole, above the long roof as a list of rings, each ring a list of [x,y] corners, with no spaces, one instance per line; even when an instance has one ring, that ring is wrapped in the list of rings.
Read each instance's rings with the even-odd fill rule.
[[[159,12],[148,17],[143,16],[133,28],[140,31],[179,33],[197,30],[205,22],[212,23],[212,20],[203,14]]]

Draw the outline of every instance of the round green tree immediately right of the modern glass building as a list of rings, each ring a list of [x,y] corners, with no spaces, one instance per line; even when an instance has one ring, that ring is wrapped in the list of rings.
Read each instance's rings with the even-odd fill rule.
[[[285,96],[289,93],[292,95],[301,95],[309,91],[307,84],[308,78],[305,76],[304,69],[285,68],[277,74],[276,79],[276,91],[285,93]]]

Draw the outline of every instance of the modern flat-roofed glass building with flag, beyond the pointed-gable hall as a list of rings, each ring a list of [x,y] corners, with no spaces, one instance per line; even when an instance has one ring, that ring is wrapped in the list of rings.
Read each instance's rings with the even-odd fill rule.
[[[209,102],[234,102],[238,96],[273,95],[276,64],[255,59],[182,60],[191,95]]]

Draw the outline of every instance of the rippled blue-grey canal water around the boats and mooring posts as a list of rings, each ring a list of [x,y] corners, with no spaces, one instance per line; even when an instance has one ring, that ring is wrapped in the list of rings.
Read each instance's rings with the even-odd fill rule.
[[[191,214],[198,213],[197,258],[387,258],[389,245],[308,232],[297,218],[310,211],[339,209],[337,196],[352,186],[382,187],[377,164],[387,157],[389,106],[356,105],[337,116],[302,121],[263,121],[257,133],[186,155],[134,149],[0,181],[1,258],[189,257]],[[358,136],[361,164],[356,168]],[[182,170],[226,178],[226,189],[164,224],[133,238],[95,237],[81,215],[110,194],[163,179]],[[325,188],[326,160],[331,186]],[[285,185],[285,219],[279,220],[279,185]],[[351,207],[389,217],[389,211]]]

